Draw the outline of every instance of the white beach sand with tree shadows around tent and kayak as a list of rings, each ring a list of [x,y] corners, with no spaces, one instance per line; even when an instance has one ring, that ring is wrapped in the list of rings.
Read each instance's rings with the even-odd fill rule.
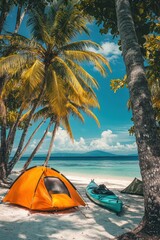
[[[15,175],[12,177],[15,178]],[[123,201],[123,212],[118,216],[87,198],[85,188],[90,178],[67,177],[83,196],[86,207],[42,213],[0,203],[0,240],[107,240],[135,228],[140,222],[143,198],[120,193],[133,179],[95,179],[98,184],[106,184]],[[7,191],[0,188],[0,200]]]

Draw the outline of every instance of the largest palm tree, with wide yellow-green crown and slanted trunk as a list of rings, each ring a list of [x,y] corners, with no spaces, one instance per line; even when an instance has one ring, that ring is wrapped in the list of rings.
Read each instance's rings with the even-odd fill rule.
[[[98,88],[97,81],[88,74],[81,62],[93,62],[102,75],[105,75],[103,64],[109,67],[108,61],[100,54],[90,52],[88,46],[98,48],[98,44],[90,41],[73,42],[73,38],[82,32],[88,33],[86,28],[87,19],[80,14],[80,11],[73,4],[63,5],[55,11],[53,7],[46,10],[44,15],[35,13],[29,20],[33,39],[27,39],[18,34],[11,36],[3,35],[6,46],[4,51],[13,50],[12,54],[2,58],[0,70],[2,75],[13,75],[22,64],[28,66],[22,74],[24,95],[30,96],[36,91],[36,101],[28,116],[28,123],[40,100],[46,93],[49,105],[57,116],[65,112],[63,97],[65,84],[69,87],[76,98],[81,102],[81,96],[86,89],[92,92],[92,88]],[[72,41],[71,41],[72,40]],[[17,47],[18,46],[18,47]],[[57,91],[62,84],[61,91]],[[29,93],[29,94],[28,94]],[[59,96],[57,95],[59,94]],[[54,103],[59,100],[60,108],[54,109]],[[69,96],[68,96],[69,97]],[[77,101],[77,103],[78,103]],[[20,155],[29,124],[21,136],[20,145],[15,153],[14,162]]]

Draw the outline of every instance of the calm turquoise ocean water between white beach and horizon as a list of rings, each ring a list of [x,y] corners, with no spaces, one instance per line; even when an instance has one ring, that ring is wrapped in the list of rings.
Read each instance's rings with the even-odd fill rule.
[[[35,157],[30,167],[42,165],[45,157]],[[22,169],[27,157],[23,157],[14,170]],[[136,156],[114,157],[51,157],[49,167],[64,175],[77,177],[119,177],[140,178],[139,162]]]

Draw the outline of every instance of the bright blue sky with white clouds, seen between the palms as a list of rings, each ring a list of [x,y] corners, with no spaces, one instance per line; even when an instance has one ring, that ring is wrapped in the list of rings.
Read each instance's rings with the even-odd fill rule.
[[[14,12],[10,14],[6,29],[13,29]],[[87,35],[78,36],[78,40],[90,39],[100,44],[102,49],[99,53],[103,54],[110,63],[112,73],[107,70],[107,76],[104,78],[94,68],[93,65],[88,64],[85,69],[97,79],[99,89],[95,90],[99,103],[100,110],[94,109],[94,113],[100,121],[100,128],[95,121],[85,115],[85,123],[81,123],[78,119],[70,118],[70,124],[74,135],[74,143],[69,139],[65,129],[62,126],[59,128],[53,151],[55,152],[87,152],[92,150],[102,150],[115,154],[135,154],[137,147],[134,136],[129,136],[128,129],[132,126],[131,112],[127,109],[127,100],[129,98],[128,90],[121,89],[116,94],[110,89],[110,80],[122,78],[125,74],[125,66],[121,52],[119,51],[117,39],[112,39],[110,34],[101,35],[99,28],[93,23],[88,25],[90,29],[90,37]],[[28,36],[28,31],[23,24],[20,33]],[[77,40],[76,39],[76,40]],[[93,50],[93,49],[91,49]],[[94,50],[95,51],[95,50]],[[29,130],[28,136],[31,134],[36,124],[33,124]],[[47,123],[42,126],[39,132],[35,135],[26,154],[33,151],[34,147],[42,137]],[[51,129],[52,130],[52,129]],[[19,139],[21,132],[17,134]],[[51,132],[49,132],[43,146],[39,150],[39,154],[47,152]],[[15,141],[16,149],[17,141]]]

